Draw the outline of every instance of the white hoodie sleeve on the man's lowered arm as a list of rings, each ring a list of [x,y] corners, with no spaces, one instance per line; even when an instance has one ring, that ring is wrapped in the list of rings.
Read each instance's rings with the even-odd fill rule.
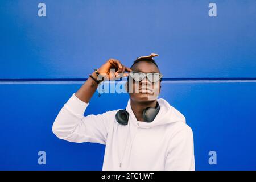
[[[184,124],[170,139],[164,169],[167,171],[195,171],[193,132]]]

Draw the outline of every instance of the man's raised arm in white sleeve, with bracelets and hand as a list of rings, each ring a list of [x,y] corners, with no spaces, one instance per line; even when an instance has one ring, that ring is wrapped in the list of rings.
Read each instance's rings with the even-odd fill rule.
[[[112,80],[115,76],[110,77],[110,69],[115,69],[115,76],[119,73],[130,71],[130,68],[125,67],[118,60],[109,59],[98,69],[98,72],[105,77],[105,80]],[[127,73],[123,76],[126,75]],[[92,76],[98,80],[96,72],[93,72]],[[72,97],[64,104],[52,126],[52,131],[58,138],[77,143],[106,143],[108,115],[113,111],[84,116],[90,98],[92,98],[97,86],[97,82],[89,77],[81,88],[72,94]]]

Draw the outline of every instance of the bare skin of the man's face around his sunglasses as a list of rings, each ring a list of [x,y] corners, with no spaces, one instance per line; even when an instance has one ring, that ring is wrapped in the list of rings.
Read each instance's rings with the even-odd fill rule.
[[[140,61],[131,67],[133,71],[138,71],[142,73],[160,73],[158,67],[154,63],[148,61]],[[131,85],[131,83],[133,83]],[[129,82],[127,83],[127,90],[129,90],[129,95],[131,100],[136,102],[148,102],[156,100],[161,89],[160,80],[157,82],[151,82],[145,77],[141,81],[134,81],[133,78],[129,76]],[[131,92],[133,90],[133,92]]]

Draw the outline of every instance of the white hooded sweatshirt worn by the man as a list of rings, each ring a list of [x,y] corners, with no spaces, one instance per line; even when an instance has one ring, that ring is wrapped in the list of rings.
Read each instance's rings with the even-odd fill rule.
[[[102,170],[195,170],[193,133],[185,117],[159,98],[160,110],[151,123],[137,121],[130,100],[128,125],[115,120],[118,110],[84,116],[89,103],[72,95],[52,126],[69,142],[105,144]]]

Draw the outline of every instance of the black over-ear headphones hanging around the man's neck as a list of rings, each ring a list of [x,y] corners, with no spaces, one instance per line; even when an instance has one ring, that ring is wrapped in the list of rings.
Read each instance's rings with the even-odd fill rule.
[[[156,107],[147,107],[143,110],[142,117],[145,122],[150,123],[154,121],[156,115],[160,110],[160,105],[156,102]],[[117,114],[115,114],[115,119],[121,125],[127,125],[129,119],[129,113],[126,109],[119,110]]]

